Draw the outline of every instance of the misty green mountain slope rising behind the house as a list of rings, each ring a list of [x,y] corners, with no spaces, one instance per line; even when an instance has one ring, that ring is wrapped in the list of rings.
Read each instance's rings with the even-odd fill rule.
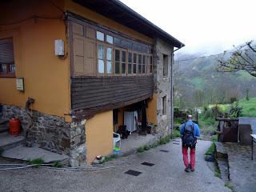
[[[238,71],[218,72],[222,55],[202,57],[199,54],[178,54],[174,63],[174,98],[178,106],[202,106],[208,103],[227,103],[241,99],[249,90],[256,96],[256,78]]]

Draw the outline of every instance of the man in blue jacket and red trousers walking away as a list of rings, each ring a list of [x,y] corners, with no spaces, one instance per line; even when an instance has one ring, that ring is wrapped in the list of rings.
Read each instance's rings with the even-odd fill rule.
[[[182,154],[183,162],[186,166],[185,171],[194,172],[195,166],[195,146],[197,144],[197,137],[200,137],[199,126],[192,122],[192,115],[187,116],[187,122],[182,124],[180,134],[182,135]],[[187,150],[190,148],[190,163]]]

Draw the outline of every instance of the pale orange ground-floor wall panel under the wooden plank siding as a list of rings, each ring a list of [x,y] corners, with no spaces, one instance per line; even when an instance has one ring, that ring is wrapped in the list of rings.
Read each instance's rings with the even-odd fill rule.
[[[86,162],[113,151],[113,111],[96,114],[86,122]]]

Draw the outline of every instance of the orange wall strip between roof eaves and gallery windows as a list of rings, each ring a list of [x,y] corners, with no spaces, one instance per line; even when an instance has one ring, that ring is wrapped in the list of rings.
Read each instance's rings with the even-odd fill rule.
[[[117,30],[123,34],[129,35],[132,38],[140,39],[143,42],[148,42],[153,44],[154,40],[152,38],[147,37],[144,34],[140,34],[135,30],[132,30],[126,26],[122,26],[118,22],[114,22],[110,18],[106,18],[101,14],[94,12],[93,10],[87,9],[86,7],[80,6],[76,2],[72,2],[71,0],[65,1],[65,9],[70,10],[75,14],[79,14],[84,18],[90,19],[91,21],[101,23],[103,26],[110,27],[111,29]]]

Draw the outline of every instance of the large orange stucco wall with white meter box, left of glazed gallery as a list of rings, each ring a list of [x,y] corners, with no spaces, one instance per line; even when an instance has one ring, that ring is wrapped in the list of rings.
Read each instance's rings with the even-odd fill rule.
[[[54,2],[64,9],[64,1]],[[61,19],[30,18],[60,18],[62,14],[49,1],[22,0],[2,4],[0,13],[0,23],[17,22],[1,25],[0,38],[14,39],[16,77],[25,82],[21,92],[16,90],[15,78],[0,77],[0,103],[25,107],[30,97],[35,99],[31,109],[64,117],[70,110],[70,65],[69,58],[54,55],[54,39],[66,44],[66,25]]]

